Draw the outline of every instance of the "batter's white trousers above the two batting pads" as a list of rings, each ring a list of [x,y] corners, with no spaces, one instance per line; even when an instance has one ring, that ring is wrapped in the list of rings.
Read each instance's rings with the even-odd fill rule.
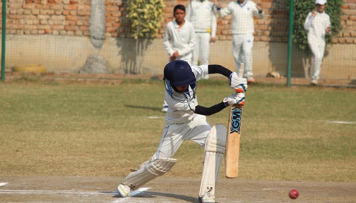
[[[185,123],[165,125],[161,142],[152,159],[171,158],[186,140],[191,140],[204,147],[210,129],[211,126],[203,115],[197,115]]]

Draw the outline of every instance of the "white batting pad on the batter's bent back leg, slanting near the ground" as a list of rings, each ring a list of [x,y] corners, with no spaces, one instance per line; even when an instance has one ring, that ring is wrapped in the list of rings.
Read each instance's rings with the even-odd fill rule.
[[[176,159],[162,158],[145,162],[137,171],[123,178],[123,184],[135,190],[143,184],[167,173],[177,162]]]

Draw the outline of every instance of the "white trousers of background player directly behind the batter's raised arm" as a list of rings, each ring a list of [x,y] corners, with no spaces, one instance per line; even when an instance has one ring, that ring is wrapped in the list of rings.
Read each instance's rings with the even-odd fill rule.
[[[195,47],[193,49],[192,64],[199,65],[209,64],[210,57],[210,32],[195,32]]]

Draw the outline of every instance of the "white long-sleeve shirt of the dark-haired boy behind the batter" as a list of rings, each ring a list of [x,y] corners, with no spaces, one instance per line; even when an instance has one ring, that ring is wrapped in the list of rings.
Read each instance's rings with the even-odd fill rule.
[[[195,46],[193,25],[185,21],[182,27],[175,20],[167,23],[163,45],[169,55],[178,51],[180,56],[190,54]]]

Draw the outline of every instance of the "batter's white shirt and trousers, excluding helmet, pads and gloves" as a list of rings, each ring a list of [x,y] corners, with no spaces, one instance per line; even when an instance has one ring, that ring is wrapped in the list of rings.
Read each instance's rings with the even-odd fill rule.
[[[191,68],[197,81],[209,74],[208,65],[192,65]],[[198,105],[196,98],[180,102],[174,100],[166,91],[165,100],[169,108],[166,114],[161,142],[152,158],[153,160],[172,157],[186,140],[191,140],[203,147],[207,134],[211,129],[205,116],[193,112]]]

